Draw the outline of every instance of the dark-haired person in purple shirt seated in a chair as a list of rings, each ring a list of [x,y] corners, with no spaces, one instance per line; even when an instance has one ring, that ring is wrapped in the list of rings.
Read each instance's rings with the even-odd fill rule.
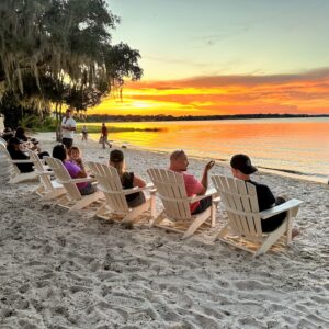
[[[72,179],[87,178],[87,172],[76,163],[68,160],[67,149],[64,144],[54,146],[53,157],[59,159]],[[81,195],[89,195],[95,192],[94,185],[90,182],[77,183]]]

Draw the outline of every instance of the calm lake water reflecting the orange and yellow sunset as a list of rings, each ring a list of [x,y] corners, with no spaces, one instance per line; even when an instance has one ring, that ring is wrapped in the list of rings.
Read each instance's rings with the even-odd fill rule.
[[[109,135],[109,139],[133,147],[167,152],[184,149],[189,156],[225,161],[243,152],[260,169],[322,182],[329,175],[329,118],[109,123],[107,126],[162,129]],[[99,135],[91,134],[91,138],[98,139]]]

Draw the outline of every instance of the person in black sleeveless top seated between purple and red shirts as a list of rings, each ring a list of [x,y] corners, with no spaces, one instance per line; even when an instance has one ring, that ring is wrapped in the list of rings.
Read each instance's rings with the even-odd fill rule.
[[[144,188],[146,182],[134,174],[134,172],[126,171],[124,154],[120,149],[114,149],[110,152],[110,166],[117,170],[118,177],[123,189],[132,189],[135,186]],[[126,195],[126,200],[129,207],[136,207],[145,203],[145,195],[141,191]]]

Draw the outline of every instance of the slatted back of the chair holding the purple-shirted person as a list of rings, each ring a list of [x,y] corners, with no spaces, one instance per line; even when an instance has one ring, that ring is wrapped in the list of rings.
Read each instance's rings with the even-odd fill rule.
[[[72,200],[81,200],[81,193],[77,188],[77,184],[72,182],[70,174],[68,173],[67,169],[64,167],[63,162],[59,159],[55,159],[52,157],[44,157],[49,168],[53,170],[54,175],[58,183],[63,184],[67,194]]]

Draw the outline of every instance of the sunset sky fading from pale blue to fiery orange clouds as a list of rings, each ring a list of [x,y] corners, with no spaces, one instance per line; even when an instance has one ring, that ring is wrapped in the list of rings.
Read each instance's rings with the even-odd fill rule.
[[[144,76],[89,113],[329,113],[329,1],[107,0]]]

